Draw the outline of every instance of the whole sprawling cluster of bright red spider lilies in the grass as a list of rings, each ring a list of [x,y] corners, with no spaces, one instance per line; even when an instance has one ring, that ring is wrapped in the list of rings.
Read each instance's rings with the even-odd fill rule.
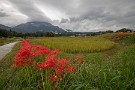
[[[38,70],[53,70],[50,74],[50,80],[54,84],[60,79],[64,78],[65,73],[72,73],[76,71],[76,66],[73,65],[72,58],[59,58],[60,50],[50,50],[41,45],[31,44],[29,40],[23,40],[21,42],[22,48],[16,55],[16,67],[20,66],[35,66]],[[45,60],[38,63],[33,58],[43,55]],[[81,59],[83,56],[77,56],[77,59]],[[80,64],[82,61],[78,60]]]

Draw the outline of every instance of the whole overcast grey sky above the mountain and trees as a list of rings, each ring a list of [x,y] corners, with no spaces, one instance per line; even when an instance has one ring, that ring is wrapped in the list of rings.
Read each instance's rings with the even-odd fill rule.
[[[86,32],[135,29],[135,0],[0,0],[0,24],[30,21]]]

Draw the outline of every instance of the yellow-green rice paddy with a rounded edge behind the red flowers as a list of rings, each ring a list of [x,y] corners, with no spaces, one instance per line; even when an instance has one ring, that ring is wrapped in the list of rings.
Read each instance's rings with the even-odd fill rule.
[[[90,38],[42,38],[32,41],[33,43],[44,45],[50,49],[58,48],[63,52],[68,53],[88,53],[99,52],[113,48],[114,42],[104,38],[90,37]]]

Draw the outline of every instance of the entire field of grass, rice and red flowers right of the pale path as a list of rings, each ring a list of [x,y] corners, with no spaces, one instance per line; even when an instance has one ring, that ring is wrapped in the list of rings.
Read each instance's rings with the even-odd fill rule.
[[[37,38],[31,39],[30,42],[25,41],[25,45],[23,43],[16,44],[12,51],[0,61],[2,90],[135,89],[135,34]],[[23,53],[26,56],[39,49],[40,53],[34,53],[30,58],[27,56],[26,60],[30,63],[26,61],[18,64],[16,60],[20,57],[19,59],[15,57],[22,53],[22,51],[18,52],[20,49],[23,52],[30,50]],[[45,55],[42,54],[42,50],[46,50]],[[44,61],[48,61],[50,57],[47,56],[50,55],[48,54],[50,50],[54,52],[54,56],[57,56],[55,68],[61,65],[60,61],[63,61],[62,66],[66,64],[66,70],[61,71],[61,68],[60,75],[58,69],[56,70],[53,66],[43,65],[46,63]],[[36,63],[33,64],[31,61]]]

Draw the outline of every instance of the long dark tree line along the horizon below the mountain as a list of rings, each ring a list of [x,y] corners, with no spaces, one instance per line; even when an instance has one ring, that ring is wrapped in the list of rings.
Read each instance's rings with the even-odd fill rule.
[[[117,30],[116,32],[133,32],[131,29],[122,28],[120,30]],[[2,37],[55,37],[55,36],[78,36],[78,35],[84,35],[84,36],[95,36],[99,34],[105,34],[105,33],[114,33],[112,30],[107,31],[99,31],[99,32],[66,32],[64,34],[55,34],[54,32],[35,32],[35,33],[18,33],[13,30],[6,30],[6,29],[0,29],[0,38]]]

